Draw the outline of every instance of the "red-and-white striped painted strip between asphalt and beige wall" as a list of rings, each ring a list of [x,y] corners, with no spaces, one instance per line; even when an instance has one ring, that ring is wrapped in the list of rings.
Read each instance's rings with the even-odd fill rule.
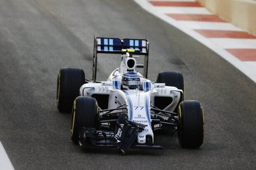
[[[255,36],[220,19],[196,0],[134,1],[219,54],[256,83]]]

